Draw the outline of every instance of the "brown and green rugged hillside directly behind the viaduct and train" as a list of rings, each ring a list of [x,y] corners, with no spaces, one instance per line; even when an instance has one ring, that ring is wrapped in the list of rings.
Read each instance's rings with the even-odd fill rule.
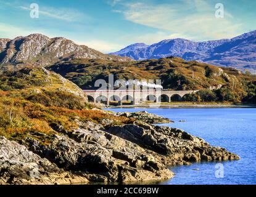
[[[247,95],[247,86],[256,76],[243,74],[234,68],[221,68],[207,63],[186,61],[178,57],[133,62],[105,60],[71,60],[49,66],[49,70],[75,82],[82,89],[94,89],[97,79],[161,79],[164,89],[217,90],[232,89],[241,100]]]

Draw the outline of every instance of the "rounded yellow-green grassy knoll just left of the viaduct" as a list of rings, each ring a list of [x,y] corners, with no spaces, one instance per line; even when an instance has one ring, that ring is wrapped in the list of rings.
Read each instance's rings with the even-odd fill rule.
[[[64,106],[60,107],[83,108],[87,102],[78,86],[45,68],[27,67],[15,72],[1,72],[0,90],[6,91],[9,97],[25,98],[46,106],[62,103]]]

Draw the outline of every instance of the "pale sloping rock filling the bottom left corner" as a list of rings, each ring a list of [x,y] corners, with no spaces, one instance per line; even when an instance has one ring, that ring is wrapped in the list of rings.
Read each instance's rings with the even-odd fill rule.
[[[0,137],[0,184],[70,184],[88,182],[65,172],[17,142]]]

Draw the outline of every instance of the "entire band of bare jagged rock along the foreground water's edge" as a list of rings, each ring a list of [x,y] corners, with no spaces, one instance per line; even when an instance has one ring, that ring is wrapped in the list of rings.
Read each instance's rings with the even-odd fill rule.
[[[0,184],[134,183],[171,179],[168,167],[239,159],[180,129],[154,126],[170,120],[145,112],[118,113],[133,124],[80,123],[72,132],[52,125],[49,145],[27,137],[0,137]],[[37,135],[44,135],[38,133]]]

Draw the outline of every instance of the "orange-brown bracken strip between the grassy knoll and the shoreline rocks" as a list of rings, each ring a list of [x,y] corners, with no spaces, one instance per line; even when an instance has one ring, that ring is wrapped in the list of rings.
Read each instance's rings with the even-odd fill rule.
[[[75,120],[81,123],[92,121],[101,123],[110,119],[112,124],[132,123],[133,120],[123,116],[115,116],[102,110],[76,110],[61,107],[46,107],[19,98],[0,97],[0,134],[8,139],[24,141],[27,137],[39,140],[43,145],[50,143],[51,136],[59,131],[54,126],[63,127],[66,132],[72,132],[79,127]],[[39,135],[46,134],[46,135]]]

